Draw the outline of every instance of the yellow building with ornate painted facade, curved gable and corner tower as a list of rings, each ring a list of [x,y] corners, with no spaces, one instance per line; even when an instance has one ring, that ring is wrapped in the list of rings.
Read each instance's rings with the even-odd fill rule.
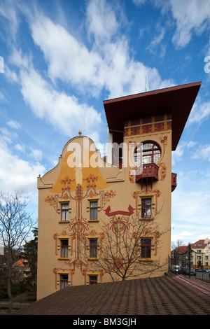
[[[167,271],[176,188],[172,151],[200,85],[104,101],[107,157],[101,158],[94,142],[79,132],[64,146],[57,166],[38,177],[38,299],[65,286],[111,281],[99,262],[105,260],[110,233],[119,242],[111,244],[110,267],[125,271],[129,260],[120,252],[125,233],[133,229],[130,244],[139,237],[140,254],[130,279],[155,262],[160,266],[145,277]],[[139,225],[145,225],[141,235]]]

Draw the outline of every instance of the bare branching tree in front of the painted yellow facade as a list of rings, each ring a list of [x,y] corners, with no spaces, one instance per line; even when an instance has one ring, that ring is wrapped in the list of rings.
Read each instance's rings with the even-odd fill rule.
[[[144,274],[151,276],[167,265],[168,259],[161,265],[158,259],[159,238],[165,232],[159,232],[155,218],[140,219],[134,214],[113,216],[109,223],[101,225],[101,230],[101,243],[95,246],[97,261],[92,262],[92,269],[103,269],[113,281]],[[155,255],[153,261],[150,260],[151,253]]]

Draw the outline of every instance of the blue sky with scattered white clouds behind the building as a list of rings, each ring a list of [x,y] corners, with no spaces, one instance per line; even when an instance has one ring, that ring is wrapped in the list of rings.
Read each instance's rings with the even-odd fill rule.
[[[209,0],[0,0],[0,189],[36,214],[69,139],[104,151],[103,100],[202,81],[172,156],[172,241],[210,239],[209,31]]]

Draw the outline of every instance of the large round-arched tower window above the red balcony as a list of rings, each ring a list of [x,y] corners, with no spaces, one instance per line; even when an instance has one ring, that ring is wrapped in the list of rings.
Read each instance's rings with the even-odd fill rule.
[[[139,150],[139,146],[134,151],[134,161],[137,165],[141,164],[141,156],[142,156],[142,164],[146,163],[157,163],[160,160],[161,149],[158,144],[153,141],[145,141],[143,143],[142,153]]]

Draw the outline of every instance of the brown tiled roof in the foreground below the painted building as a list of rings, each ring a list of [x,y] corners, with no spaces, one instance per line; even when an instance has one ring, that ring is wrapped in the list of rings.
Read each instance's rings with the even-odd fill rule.
[[[209,290],[210,294],[210,290]],[[210,296],[176,276],[58,290],[13,315],[210,315]],[[78,318],[78,316],[77,316]]]

